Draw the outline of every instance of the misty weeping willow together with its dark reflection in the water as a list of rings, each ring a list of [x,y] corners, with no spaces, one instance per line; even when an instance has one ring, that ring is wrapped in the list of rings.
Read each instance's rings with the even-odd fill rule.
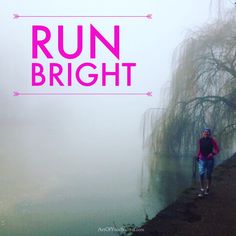
[[[148,193],[168,204],[191,182],[191,157],[204,127],[213,130],[221,154],[235,151],[235,9],[188,34],[177,48],[162,107],[145,113],[143,136],[155,153],[147,159]]]

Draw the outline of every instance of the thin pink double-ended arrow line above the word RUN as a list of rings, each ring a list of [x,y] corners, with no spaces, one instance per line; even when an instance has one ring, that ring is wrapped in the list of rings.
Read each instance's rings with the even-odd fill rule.
[[[152,19],[152,14],[147,14],[145,16],[141,15],[136,15],[136,16],[85,16],[85,15],[80,15],[80,16],[46,16],[46,15],[41,15],[41,16],[34,16],[34,15],[19,15],[19,14],[13,14],[13,19],[19,19],[19,18],[147,18],[147,19]]]

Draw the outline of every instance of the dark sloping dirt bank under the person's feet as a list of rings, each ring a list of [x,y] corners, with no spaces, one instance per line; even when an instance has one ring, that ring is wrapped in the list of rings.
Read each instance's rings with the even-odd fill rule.
[[[236,153],[215,168],[211,192],[197,197],[194,184],[134,236],[236,235]]]

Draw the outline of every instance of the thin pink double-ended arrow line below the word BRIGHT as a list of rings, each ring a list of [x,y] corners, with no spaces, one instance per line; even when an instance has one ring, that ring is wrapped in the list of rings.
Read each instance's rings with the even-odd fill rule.
[[[147,92],[147,93],[20,93],[17,91],[13,92],[13,96],[18,97],[18,96],[75,96],[75,95],[82,95],[82,96],[87,96],[87,95],[94,95],[94,96],[107,96],[107,95],[135,95],[135,96],[152,96],[152,92]]]

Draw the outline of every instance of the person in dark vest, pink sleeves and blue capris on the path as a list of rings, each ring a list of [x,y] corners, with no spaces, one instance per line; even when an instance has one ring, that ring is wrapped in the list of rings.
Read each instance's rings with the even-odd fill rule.
[[[208,195],[212,182],[212,172],[214,168],[214,157],[220,152],[216,139],[211,136],[211,130],[205,128],[202,137],[198,141],[198,169],[200,176],[200,192],[198,197]],[[205,185],[205,176],[207,183]]]

